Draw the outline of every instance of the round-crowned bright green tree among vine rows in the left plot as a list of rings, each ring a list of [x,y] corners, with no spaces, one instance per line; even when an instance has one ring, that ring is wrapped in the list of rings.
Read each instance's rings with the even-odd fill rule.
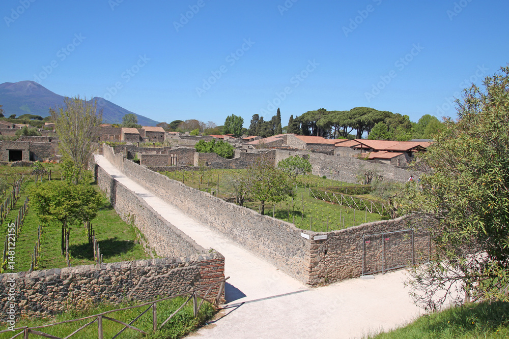
[[[71,180],[51,180],[37,184],[30,193],[30,204],[40,221],[62,228],[61,254],[65,251],[65,234],[71,226],[95,217],[101,206],[101,195],[90,184]]]

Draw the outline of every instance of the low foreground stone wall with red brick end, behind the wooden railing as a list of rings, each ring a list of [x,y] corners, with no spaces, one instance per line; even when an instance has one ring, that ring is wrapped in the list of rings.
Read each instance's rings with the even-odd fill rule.
[[[16,317],[41,317],[62,313],[67,305],[79,309],[92,302],[143,301],[183,293],[223,279],[221,267],[224,258],[211,253],[0,274],[0,320],[6,320],[12,281]],[[219,285],[208,298],[215,297],[218,290]]]

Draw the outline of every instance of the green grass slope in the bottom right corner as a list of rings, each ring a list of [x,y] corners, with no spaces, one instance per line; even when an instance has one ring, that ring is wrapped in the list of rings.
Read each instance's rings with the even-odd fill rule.
[[[413,323],[366,338],[376,339],[478,339],[509,337],[509,303],[484,302],[452,307],[418,318]]]

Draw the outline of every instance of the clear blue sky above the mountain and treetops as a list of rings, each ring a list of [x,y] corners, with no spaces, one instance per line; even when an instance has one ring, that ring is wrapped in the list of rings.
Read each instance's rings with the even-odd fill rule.
[[[508,13],[507,0],[3,0],[0,83],[166,122],[248,127],[277,107],[283,126],[322,107],[441,118],[509,62]]]

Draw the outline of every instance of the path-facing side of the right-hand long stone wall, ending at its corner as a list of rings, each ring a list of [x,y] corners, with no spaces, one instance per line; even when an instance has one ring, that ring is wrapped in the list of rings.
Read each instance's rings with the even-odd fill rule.
[[[108,145],[103,147],[106,159],[141,186],[295,279],[308,283],[308,240],[300,236],[294,225],[189,188],[115,155]]]

